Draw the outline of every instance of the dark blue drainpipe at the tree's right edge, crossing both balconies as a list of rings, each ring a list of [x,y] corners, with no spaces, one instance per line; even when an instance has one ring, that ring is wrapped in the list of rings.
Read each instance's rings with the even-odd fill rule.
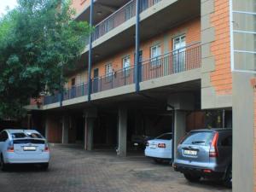
[[[90,26],[93,25],[93,1],[94,0],[90,0]],[[90,74],[91,74],[91,62],[92,62],[92,33],[90,33],[90,39],[89,39],[89,61],[88,61],[88,102],[90,102],[90,90],[91,90],[91,78],[90,78]]]

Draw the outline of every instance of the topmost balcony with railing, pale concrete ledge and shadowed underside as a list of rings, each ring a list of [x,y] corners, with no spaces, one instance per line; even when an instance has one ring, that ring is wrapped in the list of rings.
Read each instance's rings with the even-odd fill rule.
[[[104,0],[105,2],[105,0]],[[106,3],[109,1],[106,0]],[[114,1],[116,2],[116,1]],[[95,22],[92,34],[92,61],[97,63],[109,55],[128,49],[135,44],[136,26],[136,0],[121,1],[125,3],[115,10],[113,14]],[[95,1],[94,15],[102,10],[103,1]],[[153,38],[164,33],[174,26],[201,15],[200,0],[140,0],[140,38],[141,41]],[[77,17],[84,20],[84,12]],[[104,14],[103,14],[104,15]],[[94,16],[94,20],[96,16]],[[87,18],[88,19],[88,18]],[[82,52],[81,61],[76,68],[88,65],[89,46],[88,41]]]

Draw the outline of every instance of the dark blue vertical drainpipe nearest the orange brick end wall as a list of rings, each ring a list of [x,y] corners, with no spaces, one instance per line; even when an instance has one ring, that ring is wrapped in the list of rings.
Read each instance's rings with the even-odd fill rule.
[[[136,1],[136,50],[135,50],[135,82],[136,82],[136,92],[140,90],[140,70],[139,70],[139,51],[140,51],[140,0]]]

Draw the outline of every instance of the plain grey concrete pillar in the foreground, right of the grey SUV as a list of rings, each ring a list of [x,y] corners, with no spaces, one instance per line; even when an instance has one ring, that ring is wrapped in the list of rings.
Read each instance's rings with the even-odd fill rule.
[[[254,190],[254,108],[250,73],[233,73],[233,192]]]

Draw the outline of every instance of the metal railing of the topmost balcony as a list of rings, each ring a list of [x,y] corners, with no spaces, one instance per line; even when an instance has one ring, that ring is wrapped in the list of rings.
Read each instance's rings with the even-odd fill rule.
[[[143,12],[160,1],[162,0],[140,0],[140,11]],[[136,0],[131,0],[131,2],[126,3],[123,7],[95,26],[95,32],[93,33],[92,40],[95,41],[97,38],[101,38],[103,35],[125,23],[126,20],[130,20],[135,15]]]

